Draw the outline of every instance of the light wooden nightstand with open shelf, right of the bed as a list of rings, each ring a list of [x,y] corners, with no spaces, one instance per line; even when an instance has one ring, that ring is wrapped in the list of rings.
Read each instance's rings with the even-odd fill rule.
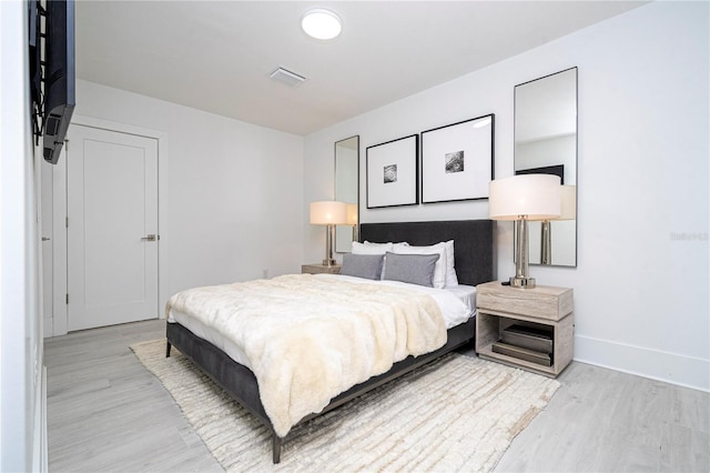
[[[557,376],[572,360],[572,298],[569,288],[518,289],[501,285],[500,281],[477,285],[476,353],[487,360]],[[527,341],[520,340],[520,330]],[[526,331],[544,335],[528,338]],[[501,340],[504,336],[508,340]],[[545,342],[549,350],[530,348],[530,343]]]

